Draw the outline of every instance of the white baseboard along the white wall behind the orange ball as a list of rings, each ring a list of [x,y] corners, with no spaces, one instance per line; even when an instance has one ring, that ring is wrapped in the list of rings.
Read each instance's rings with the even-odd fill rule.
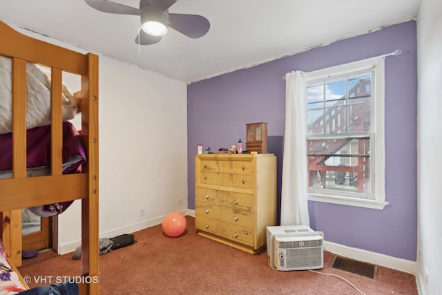
[[[189,213],[190,211],[190,213]],[[192,215],[193,211],[193,215]],[[182,210],[180,211],[184,216],[189,215],[195,217],[195,210]],[[165,215],[164,215],[165,216]],[[131,234],[135,231],[140,231],[142,229],[147,229],[148,227],[153,227],[155,225],[160,225],[164,219],[164,216],[159,216],[157,218],[152,218],[149,220],[143,220],[142,222],[137,222],[133,225],[128,225],[127,227],[122,227],[120,229],[115,229],[114,231],[108,231],[106,233],[102,233],[99,235],[99,238],[113,238],[115,236],[119,236],[122,234]],[[67,254],[75,251],[77,247],[81,245],[81,240],[77,240],[75,242],[70,242],[65,245],[59,245],[58,254]]]

